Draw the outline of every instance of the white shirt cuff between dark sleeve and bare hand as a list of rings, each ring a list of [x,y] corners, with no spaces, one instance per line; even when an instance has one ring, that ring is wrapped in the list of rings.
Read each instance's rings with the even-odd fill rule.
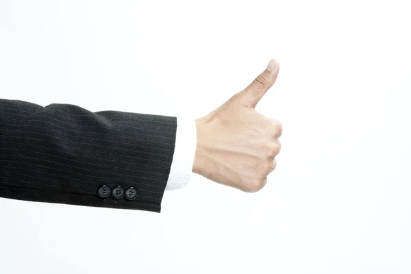
[[[175,149],[166,190],[184,188],[190,182],[196,147],[195,119],[177,117]]]

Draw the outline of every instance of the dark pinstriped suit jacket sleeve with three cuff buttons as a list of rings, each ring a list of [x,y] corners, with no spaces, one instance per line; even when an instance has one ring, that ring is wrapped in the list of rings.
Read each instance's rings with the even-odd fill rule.
[[[0,99],[0,197],[160,212],[177,119]]]

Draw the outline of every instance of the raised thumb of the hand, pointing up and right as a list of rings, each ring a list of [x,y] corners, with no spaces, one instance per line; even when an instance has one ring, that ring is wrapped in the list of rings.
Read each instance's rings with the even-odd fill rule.
[[[256,108],[258,101],[275,83],[278,72],[279,63],[271,59],[266,69],[247,88],[240,92],[241,103],[249,108]]]

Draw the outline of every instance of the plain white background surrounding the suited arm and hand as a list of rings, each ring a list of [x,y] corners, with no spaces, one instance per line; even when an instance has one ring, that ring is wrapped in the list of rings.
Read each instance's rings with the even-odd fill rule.
[[[409,1],[0,1],[0,97],[199,118],[270,58],[269,184],[0,199],[0,273],[411,273]]]

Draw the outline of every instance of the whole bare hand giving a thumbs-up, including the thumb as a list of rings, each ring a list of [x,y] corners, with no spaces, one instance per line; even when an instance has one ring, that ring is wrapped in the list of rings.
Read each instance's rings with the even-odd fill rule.
[[[247,88],[219,108],[195,121],[197,148],[192,172],[245,192],[265,186],[275,169],[282,125],[254,108],[273,86],[279,72],[276,60]]]

